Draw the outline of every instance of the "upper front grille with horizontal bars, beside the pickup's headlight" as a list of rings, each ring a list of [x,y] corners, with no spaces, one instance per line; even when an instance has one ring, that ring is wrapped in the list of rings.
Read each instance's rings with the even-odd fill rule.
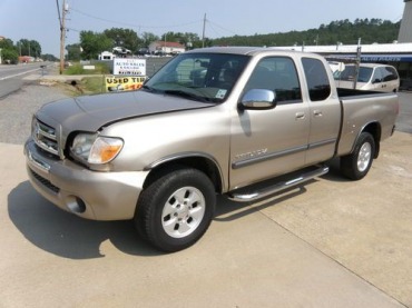
[[[57,142],[56,130],[52,127],[35,120],[32,137],[39,148],[53,156],[59,156],[59,145]]]

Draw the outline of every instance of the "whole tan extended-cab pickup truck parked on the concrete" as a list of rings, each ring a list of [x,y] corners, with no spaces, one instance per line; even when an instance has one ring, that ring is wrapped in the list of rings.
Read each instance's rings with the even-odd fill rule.
[[[47,103],[24,145],[30,182],[63,210],[133,219],[163,251],[194,245],[216,195],[303,185],[339,157],[362,179],[394,132],[396,93],[336,89],[323,57],[220,47],[173,58],[138,91]]]

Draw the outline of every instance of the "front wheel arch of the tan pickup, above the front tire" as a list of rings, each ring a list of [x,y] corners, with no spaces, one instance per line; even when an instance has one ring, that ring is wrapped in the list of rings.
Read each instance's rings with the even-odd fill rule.
[[[144,188],[163,175],[170,172],[170,170],[182,167],[189,167],[204,172],[210,179],[216,192],[224,190],[225,181],[217,161],[208,155],[198,152],[174,155],[150,163],[145,168],[146,171],[149,171],[149,175],[145,180]]]

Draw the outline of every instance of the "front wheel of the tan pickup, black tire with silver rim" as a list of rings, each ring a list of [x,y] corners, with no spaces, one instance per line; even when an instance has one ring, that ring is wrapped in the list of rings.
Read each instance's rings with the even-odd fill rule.
[[[170,168],[140,193],[135,226],[155,248],[178,251],[206,232],[215,203],[215,188],[205,173],[192,168]]]

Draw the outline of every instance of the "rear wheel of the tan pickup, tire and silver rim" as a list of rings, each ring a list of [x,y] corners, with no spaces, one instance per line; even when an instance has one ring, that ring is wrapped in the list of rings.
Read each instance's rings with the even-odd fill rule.
[[[352,153],[341,158],[341,172],[351,180],[364,178],[371,169],[375,155],[375,140],[369,132],[362,132]]]

